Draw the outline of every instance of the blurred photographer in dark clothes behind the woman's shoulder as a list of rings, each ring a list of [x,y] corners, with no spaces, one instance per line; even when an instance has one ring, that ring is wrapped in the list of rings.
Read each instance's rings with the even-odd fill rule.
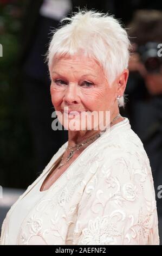
[[[162,204],[162,12],[138,10],[128,25],[132,42],[127,112],[150,159],[159,214]]]

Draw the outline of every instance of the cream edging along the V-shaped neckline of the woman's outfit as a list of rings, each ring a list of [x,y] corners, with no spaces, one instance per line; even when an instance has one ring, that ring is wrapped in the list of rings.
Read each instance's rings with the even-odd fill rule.
[[[75,164],[75,162],[76,162],[77,160],[79,160],[79,158],[82,156],[82,154],[85,154],[86,150],[88,150],[88,149],[90,148],[90,146],[94,145],[95,143],[98,143],[101,138],[107,136],[107,132],[111,132],[111,131],[113,131],[113,130],[116,130],[116,129],[117,129],[118,127],[120,127],[120,126],[129,124],[129,119],[126,118],[126,117],[123,117],[123,118],[124,118],[124,120],[120,121],[120,122],[117,123],[117,124],[114,124],[113,126],[109,127],[109,129],[106,129],[106,131],[103,132],[102,135],[101,135],[99,138],[97,138],[94,142],[92,142],[90,145],[88,145],[88,147],[85,148],[85,149],[81,152],[81,154],[74,160],[74,162],[73,162],[72,164],[70,164],[70,166],[59,176],[59,178],[57,178],[57,180],[55,180],[55,182],[54,182],[47,190],[40,191],[44,180],[47,178],[47,175],[50,173],[50,170],[54,167],[54,164],[53,164],[53,165],[49,168],[49,170],[47,171],[47,173],[46,173],[46,175],[45,175],[45,178],[43,177],[44,179],[43,179],[43,182],[41,182],[41,186],[40,186],[40,182],[38,182],[38,183],[39,183],[39,188],[38,188],[39,191],[38,191],[38,192],[39,192],[39,193],[45,193],[45,192],[48,192],[49,190],[51,190],[51,188],[54,187],[54,186],[57,184],[57,182],[58,182],[61,178],[63,178],[63,176],[67,173],[67,171],[69,170],[69,168],[70,168],[70,167],[73,167],[73,165]],[[64,150],[63,150],[63,153],[59,156],[59,158],[62,157],[62,155],[64,154],[64,151],[66,150],[67,144],[68,144],[68,141],[62,145],[61,148],[63,148]],[[59,158],[55,161],[55,163],[59,160]]]

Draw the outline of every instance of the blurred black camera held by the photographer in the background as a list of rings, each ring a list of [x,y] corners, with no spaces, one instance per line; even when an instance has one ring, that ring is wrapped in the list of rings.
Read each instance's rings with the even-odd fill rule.
[[[160,72],[162,58],[158,56],[158,45],[157,42],[147,42],[145,45],[138,46],[137,49],[146,70],[150,73]]]

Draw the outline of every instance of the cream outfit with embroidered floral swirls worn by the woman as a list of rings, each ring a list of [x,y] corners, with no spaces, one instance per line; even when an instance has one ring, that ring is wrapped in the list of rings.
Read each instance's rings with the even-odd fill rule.
[[[67,144],[11,206],[1,245],[159,245],[150,162],[129,120],[102,133],[40,192]]]

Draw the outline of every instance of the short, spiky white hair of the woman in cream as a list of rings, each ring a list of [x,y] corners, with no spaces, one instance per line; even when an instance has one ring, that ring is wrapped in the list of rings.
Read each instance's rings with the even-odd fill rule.
[[[68,23],[63,25],[63,21]],[[57,55],[73,55],[80,50],[100,63],[110,84],[128,67],[131,44],[126,29],[113,15],[79,10],[72,17],[64,17],[61,26],[52,33],[46,58],[49,70]],[[118,105],[124,107],[124,104],[121,96]]]

